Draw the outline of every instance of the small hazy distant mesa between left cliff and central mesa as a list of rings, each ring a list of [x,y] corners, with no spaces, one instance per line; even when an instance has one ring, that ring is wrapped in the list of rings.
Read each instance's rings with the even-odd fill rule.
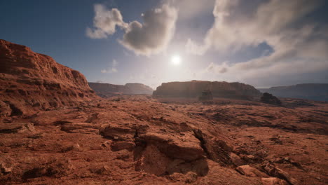
[[[114,85],[110,83],[89,82],[89,85],[100,97],[111,97],[113,95],[151,95],[153,93],[152,88],[142,83]]]

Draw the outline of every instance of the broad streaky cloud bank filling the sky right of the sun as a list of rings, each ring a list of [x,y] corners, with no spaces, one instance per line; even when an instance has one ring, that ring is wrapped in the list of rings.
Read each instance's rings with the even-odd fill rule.
[[[251,78],[328,69],[325,28],[302,22],[303,16],[320,5],[320,0],[261,1],[248,12],[242,10],[242,3],[245,1],[217,0],[215,21],[203,43],[189,39],[186,50],[196,55],[207,50],[226,53],[265,42],[273,53],[236,64],[210,64],[207,71]]]

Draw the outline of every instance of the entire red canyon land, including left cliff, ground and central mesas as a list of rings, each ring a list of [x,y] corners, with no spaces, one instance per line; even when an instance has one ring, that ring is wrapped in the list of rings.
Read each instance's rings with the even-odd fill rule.
[[[327,102],[210,81],[150,95],[0,44],[0,184],[328,182]],[[198,100],[204,90],[212,100]]]

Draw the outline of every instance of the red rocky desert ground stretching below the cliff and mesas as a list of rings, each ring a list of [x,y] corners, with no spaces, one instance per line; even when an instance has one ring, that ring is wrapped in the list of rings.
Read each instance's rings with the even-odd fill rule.
[[[328,104],[118,96],[0,118],[0,184],[327,184]]]

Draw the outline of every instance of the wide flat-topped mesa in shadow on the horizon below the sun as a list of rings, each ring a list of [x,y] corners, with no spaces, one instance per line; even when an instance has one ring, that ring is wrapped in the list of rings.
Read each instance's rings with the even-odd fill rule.
[[[228,83],[219,81],[186,81],[162,83],[154,92],[154,96],[163,97],[199,97],[203,90],[210,90],[213,97],[231,97],[247,99],[259,97],[261,93],[252,85],[244,83]]]

